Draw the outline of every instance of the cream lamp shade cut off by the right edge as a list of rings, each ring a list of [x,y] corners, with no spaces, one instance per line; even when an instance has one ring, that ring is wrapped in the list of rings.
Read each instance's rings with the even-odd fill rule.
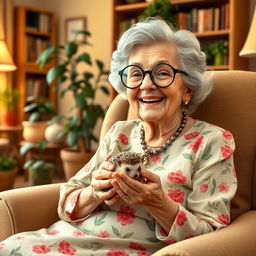
[[[256,7],[249,33],[247,35],[244,47],[240,51],[239,55],[244,57],[256,57]]]

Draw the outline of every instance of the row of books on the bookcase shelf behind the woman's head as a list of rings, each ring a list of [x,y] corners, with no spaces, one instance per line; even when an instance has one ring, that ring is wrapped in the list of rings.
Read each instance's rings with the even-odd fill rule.
[[[192,32],[205,32],[229,29],[229,3],[219,7],[206,9],[193,8],[190,12],[179,12],[177,15],[179,28]]]

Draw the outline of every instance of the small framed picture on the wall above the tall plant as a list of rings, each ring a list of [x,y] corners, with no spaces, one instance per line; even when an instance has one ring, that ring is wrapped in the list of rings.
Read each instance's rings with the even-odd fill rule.
[[[65,20],[65,38],[66,42],[72,41],[75,39],[78,41],[85,40],[85,35],[75,35],[74,30],[84,30],[86,29],[86,17],[74,17],[67,18]]]

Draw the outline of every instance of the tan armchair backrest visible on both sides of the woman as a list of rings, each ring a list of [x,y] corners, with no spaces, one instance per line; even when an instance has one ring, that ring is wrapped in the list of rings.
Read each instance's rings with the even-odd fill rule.
[[[193,117],[223,127],[235,137],[238,191],[231,206],[234,219],[256,209],[256,72],[215,71],[213,79],[211,95]],[[134,118],[128,101],[118,95],[106,113],[100,139],[116,121]]]

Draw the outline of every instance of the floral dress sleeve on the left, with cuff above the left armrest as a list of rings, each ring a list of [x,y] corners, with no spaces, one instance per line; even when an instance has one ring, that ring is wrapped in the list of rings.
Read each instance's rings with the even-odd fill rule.
[[[71,218],[81,191],[87,186],[89,186],[91,183],[92,172],[100,168],[100,165],[110,158],[109,146],[111,141],[111,133],[114,129],[115,125],[105,135],[104,140],[100,144],[98,150],[96,151],[95,155],[91,158],[91,160],[81,170],[79,170],[79,172],[75,176],[73,176],[68,182],[63,183],[61,185],[60,199],[58,203],[58,214],[60,219],[68,222],[81,222],[91,215],[89,214],[85,216],[83,219],[78,220],[72,220]],[[71,198],[71,200],[67,201],[67,196],[75,190],[77,192],[74,193],[74,196]]]

